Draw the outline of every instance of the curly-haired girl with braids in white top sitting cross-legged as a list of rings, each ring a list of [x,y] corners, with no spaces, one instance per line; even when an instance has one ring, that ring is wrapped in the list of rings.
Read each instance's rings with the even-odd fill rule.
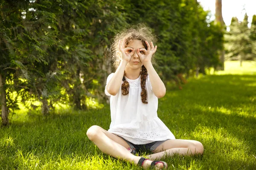
[[[102,152],[127,160],[144,169],[166,169],[164,161],[151,161],[163,156],[203,154],[198,141],[175,139],[172,132],[157,117],[158,98],[166,88],[152,63],[157,50],[156,38],[144,25],[126,28],[117,34],[112,45],[115,73],[108,76],[105,94],[110,97],[111,125],[104,130],[92,126],[88,138]],[[149,150],[149,159],[136,152]]]

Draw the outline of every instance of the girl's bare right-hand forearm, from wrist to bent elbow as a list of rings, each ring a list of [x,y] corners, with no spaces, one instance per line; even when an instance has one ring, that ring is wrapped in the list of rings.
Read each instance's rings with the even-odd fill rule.
[[[152,90],[154,92],[154,95],[157,96],[157,98],[161,98],[166,94],[166,87],[163,84],[163,81],[158,76],[157,72],[155,71],[153,65],[151,62],[147,62],[144,64],[145,68],[148,71],[149,79],[152,85]]]

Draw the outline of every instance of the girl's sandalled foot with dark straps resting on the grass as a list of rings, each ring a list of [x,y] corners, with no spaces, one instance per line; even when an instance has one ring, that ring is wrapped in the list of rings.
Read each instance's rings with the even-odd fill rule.
[[[149,167],[154,167],[155,170],[163,170],[167,168],[167,164],[164,161],[153,161],[145,158],[140,158],[138,166],[142,166],[143,169],[148,169]]]

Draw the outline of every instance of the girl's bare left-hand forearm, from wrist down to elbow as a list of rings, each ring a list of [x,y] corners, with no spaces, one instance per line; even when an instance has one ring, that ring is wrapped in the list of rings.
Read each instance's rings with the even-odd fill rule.
[[[116,69],[115,74],[113,75],[113,77],[107,84],[106,89],[107,89],[108,93],[111,94],[112,96],[115,96],[119,91],[119,88],[122,83],[122,78],[123,78],[124,72],[125,72],[125,66],[127,65],[127,63],[128,62],[125,60],[122,60],[120,62],[118,68]]]

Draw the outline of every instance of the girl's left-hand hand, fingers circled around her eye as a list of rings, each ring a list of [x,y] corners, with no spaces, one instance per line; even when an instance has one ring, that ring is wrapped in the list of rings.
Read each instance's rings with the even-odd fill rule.
[[[124,60],[126,62],[130,62],[131,57],[135,53],[135,49],[131,47],[125,48],[125,38],[123,40],[119,40],[118,46],[119,51],[121,52],[121,61]]]

